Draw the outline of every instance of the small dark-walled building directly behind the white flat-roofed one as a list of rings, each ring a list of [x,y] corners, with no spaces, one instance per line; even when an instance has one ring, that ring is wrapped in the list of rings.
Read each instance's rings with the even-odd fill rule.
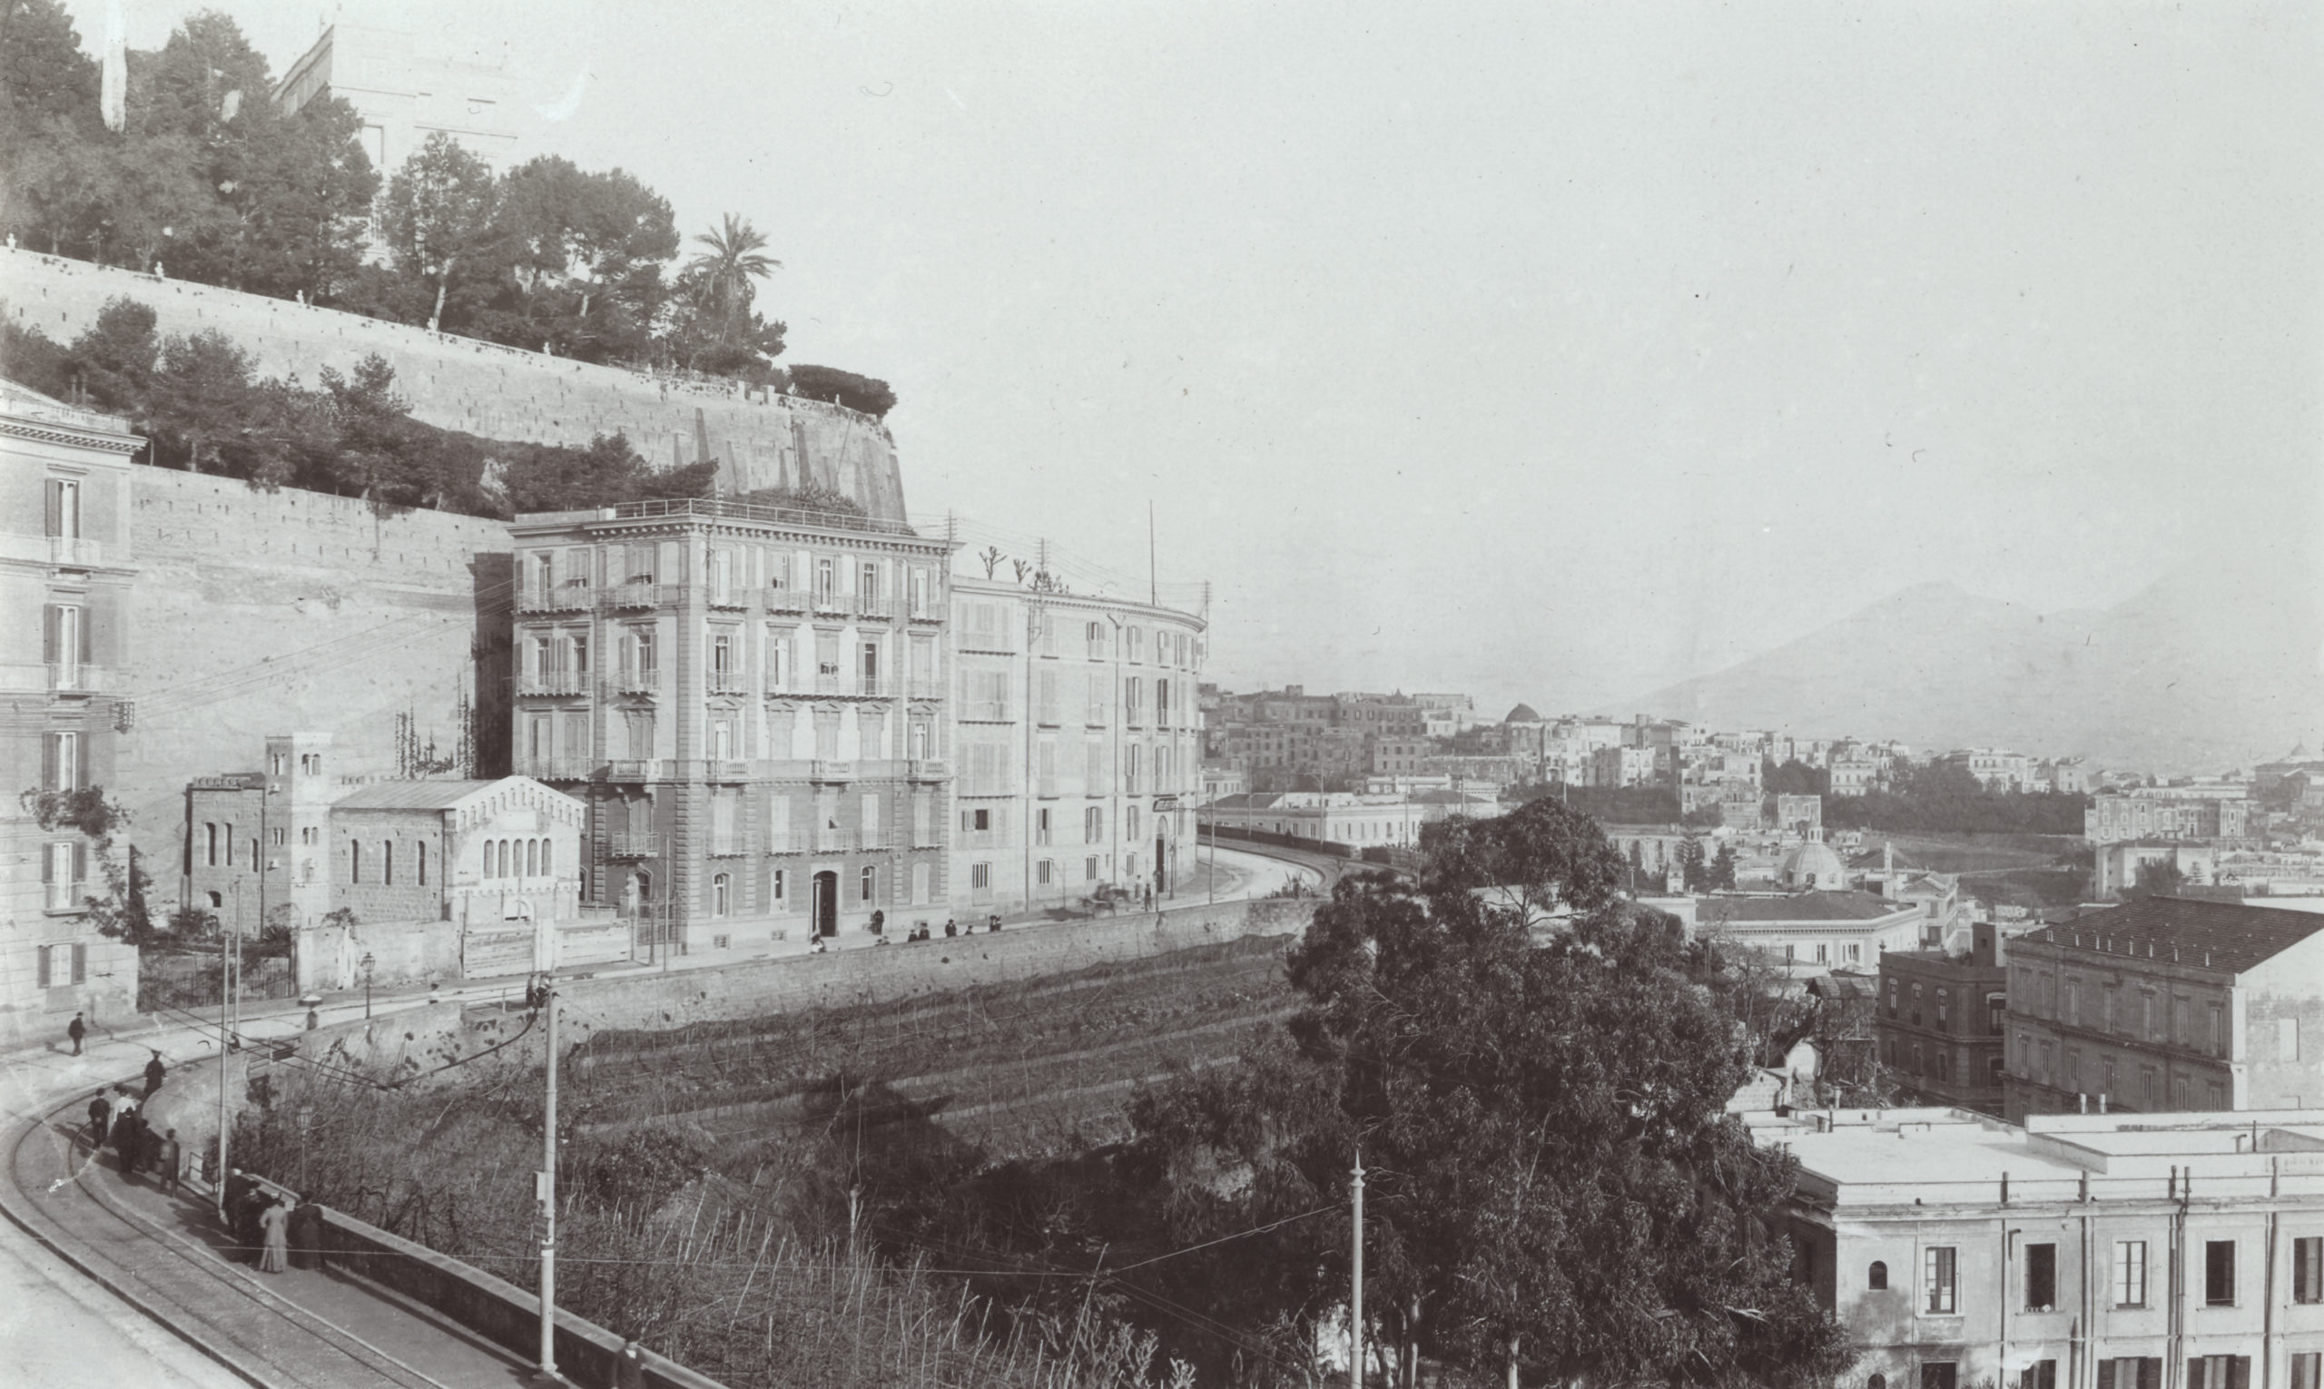
[[[1975,924],[1966,957],[1948,950],[1880,957],[1873,1031],[1880,1064],[1908,1103],[2001,1115],[2008,980],[2006,945],[1992,922]]]

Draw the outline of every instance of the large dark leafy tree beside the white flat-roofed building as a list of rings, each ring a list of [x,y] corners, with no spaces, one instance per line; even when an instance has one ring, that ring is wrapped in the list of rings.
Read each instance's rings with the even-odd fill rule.
[[[1834,1373],[1841,1333],[1778,1233],[1792,1173],[1724,1115],[1745,1041],[1715,957],[1615,899],[1592,825],[1536,806],[1436,836],[1420,887],[1343,880],[1290,959],[1297,1055],[1141,1106],[1171,1238],[1341,1199],[1360,1143],[1367,1308],[1406,1354],[1534,1382]],[[1578,915],[1536,945],[1545,904]],[[1343,1296],[1329,1247],[1297,1257],[1234,1296]]]

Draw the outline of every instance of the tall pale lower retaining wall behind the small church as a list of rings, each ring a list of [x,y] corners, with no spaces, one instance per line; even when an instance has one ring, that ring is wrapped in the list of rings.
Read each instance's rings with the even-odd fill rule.
[[[109,790],[156,904],[179,890],[186,780],[258,771],[270,732],[332,734],[342,778],[395,776],[395,715],[444,755],[465,699],[476,776],[507,769],[507,525],[165,467],[132,469],[130,497],[130,729]]]

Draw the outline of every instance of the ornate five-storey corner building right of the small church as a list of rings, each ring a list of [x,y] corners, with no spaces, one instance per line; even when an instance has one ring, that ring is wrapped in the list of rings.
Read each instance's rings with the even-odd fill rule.
[[[588,901],[686,952],[951,901],[951,541],[720,499],[509,534],[511,762],[588,804]],[[1020,639],[969,618],[962,729],[1006,729]]]

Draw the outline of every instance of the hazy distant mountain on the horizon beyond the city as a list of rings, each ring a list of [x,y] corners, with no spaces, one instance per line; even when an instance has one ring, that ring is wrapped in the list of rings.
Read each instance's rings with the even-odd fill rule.
[[[2222,571],[2064,613],[1922,583],[1608,713],[2196,771],[2317,741],[2317,639],[2312,592],[2254,592]]]

